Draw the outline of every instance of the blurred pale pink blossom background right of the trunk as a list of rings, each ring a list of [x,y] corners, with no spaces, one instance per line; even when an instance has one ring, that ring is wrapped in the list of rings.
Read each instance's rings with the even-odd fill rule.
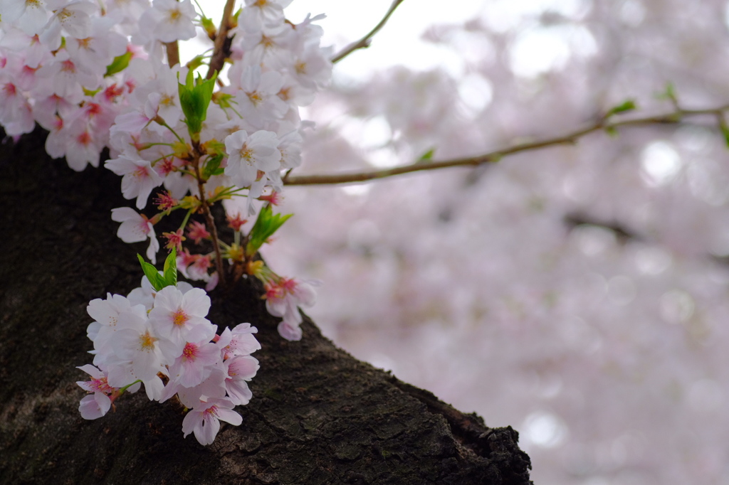
[[[323,44],[389,0],[295,0]],[[296,175],[467,157],[729,102],[725,0],[405,0],[305,109]],[[289,187],[265,253],[316,278],[357,358],[491,427],[536,484],[729,484],[729,151],[713,117],[595,133],[477,168]]]

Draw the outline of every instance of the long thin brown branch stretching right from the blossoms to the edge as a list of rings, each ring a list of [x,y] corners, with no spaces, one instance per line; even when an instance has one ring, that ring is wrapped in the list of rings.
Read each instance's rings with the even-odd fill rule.
[[[310,176],[289,176],[286,179],[286,185],[329,185],[329,184],[351,184],[355,182],[364,182],[375,180],[378,178],[386,178],[391,176],[402,175],[404,173],[418,172],[420,170],[438,170],[440,168],[475,166],[488,162],[498,162],[507,155],[520,153],[521,151],[531,151],[558,145],[574,145],[580,138],[596,131],[606,130],[612,132],[620,127],[644,126],[644,125],[676,125],[682,122],[684,117],[694,117],[700,115],[712,115],[714,117],[721,116],[724,111],[729,110],[729,104],[714,109],[677,109],[668,114],[662,114],[652,117],[626,119],[620,122],[608,123],[606,117],[601,117],[595,124],[576,130],[567,135],[556,138],[548,138],[542,141],[533,141],[529,143],[520,143],[510,146],[509,148],[491,151],[486,154],[477,155],[476,157],[464,157],[437,162],[429,162],[420,160],[410,165],[402,167],[386,168],[383,170],[367,170],[356,173],[335,173],[331,175],[310,175]]]

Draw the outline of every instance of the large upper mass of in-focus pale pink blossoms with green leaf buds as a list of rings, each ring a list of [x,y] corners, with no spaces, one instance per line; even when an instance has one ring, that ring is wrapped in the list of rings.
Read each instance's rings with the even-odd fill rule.
[[[155,225],[182,209],[182,226],[162,236],[165,248],[177,249],[188,279],[208,290],[243,274],[265,285],[293,282],[251,265],[273,232],[246,232],[261,229],[246,225],[261,205],[280,200],[282,170],[300,165],[311,123],[301,120],[299,107],[332,72],[330,49],[320,47],[322,31],[313,23],[321,17],[291,23],[284,17],[289,3],[244,0],[217,31],[190,0],[0,0],[0,125],[17,137],[37,122],[49,131],[48,154],[65,157],[74,170],[97,167],[108,147],[105,166],[122,176],[122,194],[136,205],[112,211],[121,223],[117,235],[149,240],[152,263],[160,251]],[[179,65],[176,43],[200,29],[211,49]],[[215,58],[230,66],[225,79]],[[208,69],[207,79],[200,68]],[[153,192],[157,212],[141,213]],[[235,240],[226,244],[211,227],[210,207],[233,197],[246,202],[230,214]],[[198,247],[183,248],[186,240]],[[288,339],[300,338],[301,317],[278,307],[290,307],[294,294],[268,292],[272,314],[287,315],[291,331],[281,334]],[[297,301],[313,300],[311,292]]]

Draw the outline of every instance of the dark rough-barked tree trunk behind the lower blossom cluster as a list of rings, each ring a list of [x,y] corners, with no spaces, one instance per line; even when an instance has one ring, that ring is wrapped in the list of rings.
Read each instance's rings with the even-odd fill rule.
[[[362,363],[306,319],[286,342],[260,288],[216,293],[219,328],[257,326],[260,371],[243,424],[211,446],[182,438],[182,410],[125,394],[95,421],[78,412],[75,366],[90,299],[139,285],[135,252],[115,236],[120,178],[74,173],[44,154],[44,133],[0,146],[0,483],[529,484],[510,427],[489,428],[431,393]]]

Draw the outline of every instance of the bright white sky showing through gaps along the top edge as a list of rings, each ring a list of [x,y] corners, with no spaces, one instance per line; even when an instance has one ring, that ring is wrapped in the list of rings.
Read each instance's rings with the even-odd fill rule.
[[[222,0],[205,3],[205,13],[215,23],[219,22],[223,4]],[[303,20],[308,13],[312,16],[327,15],[318,22],[324,28],[321,45],[333,45],[338,51],[377,25],[390,4],[391,0],[294,0],[285,12],[294,23]],[[462,25],[474,19],[480,19],[493,31],[508,31],[521,26],[509,52],[510,63],[518,76],[536,76],[558,68],[569,55],[592,54],[594,45],[590,34],[579,28],[539,28],[536,25],[539,15],[549,10],[577,19],[585,14],[589,5],[589,2],[581,0],[451,0],[447,4],[437,0],[405,0],[375,36],[372,45],[338,63],[334,76],[366,79],[373,71],[401,65],[423,71],[440,67],[461,78],[467,74],[467,52],[423,42],[421,35],[431,25]],[[530,27],[531,18],[535,23]],[[208,44],[206,47],[209,47]],[[182,42],[180,48],[183,62],[200,51],[200,47],[195,47],[192,42]]]

